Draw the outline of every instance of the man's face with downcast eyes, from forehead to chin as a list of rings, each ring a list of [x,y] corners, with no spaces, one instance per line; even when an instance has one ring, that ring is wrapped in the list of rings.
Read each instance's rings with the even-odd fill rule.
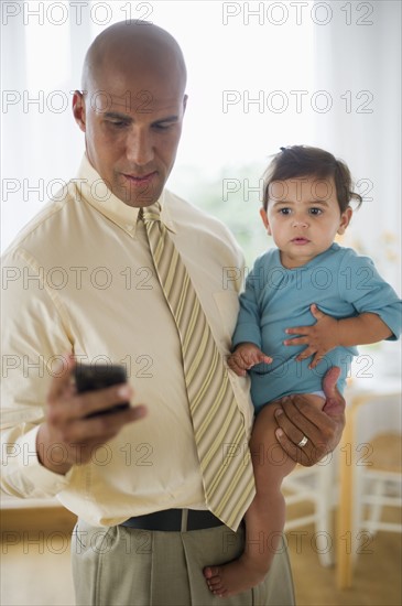
[[[175,74],[105,69],[74,98],[91,165],[129,206],[156,202],[173,167],[186,105]]]

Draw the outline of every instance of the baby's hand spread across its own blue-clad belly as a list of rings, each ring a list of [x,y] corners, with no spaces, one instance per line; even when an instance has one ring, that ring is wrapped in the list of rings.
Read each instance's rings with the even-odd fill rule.
[[[325,354],[339,345],[338,321],[320,312],[315,304],[311,306],[311,312],[317,321],[316,324],[313,326],[287,328],[286,334],[302,336],[284,340],[283,343],[284,345],[306,345],[307,347],[298,354],[296,360],[304,360],[314,355],[309,368],[315,368],[322,361]]]

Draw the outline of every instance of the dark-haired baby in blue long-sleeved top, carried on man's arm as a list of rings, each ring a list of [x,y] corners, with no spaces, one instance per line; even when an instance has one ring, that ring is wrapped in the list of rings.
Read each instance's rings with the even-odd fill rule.
[[[356,345],[396,339],[401,333],[402,302],[394,290],[371,259],[334,242],[350,223],[350,202],[361,204],[348,167],[317,148],[281,150],[264,173],[260,210],[278,248],[259,257],[247,278],[228,360],[237,375],[250,372],[257,494],[246,513],[243,554],[204,570],[210,591],[221,597],[260,583],[281,540],[281,483],[295,463],[278,461],[275,407],[270,404],[304,393],[323,409],[322,379],[328,368],[340,368],[341,391]],[[286,339],[286,334],[297,337]],[[296,445],[307,442],[301,431]]]

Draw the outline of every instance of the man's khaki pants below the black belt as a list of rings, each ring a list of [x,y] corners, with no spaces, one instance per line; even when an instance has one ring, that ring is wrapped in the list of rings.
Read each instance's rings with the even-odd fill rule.
[[[292,606],[285,547],[259,586],[230,598],[214,596],[203,576],[207,564],[236,559],[245,532],[225,526],[188,532],[126,527],[94,528],[78,521],[73,533],[73,575],[79,606]]]

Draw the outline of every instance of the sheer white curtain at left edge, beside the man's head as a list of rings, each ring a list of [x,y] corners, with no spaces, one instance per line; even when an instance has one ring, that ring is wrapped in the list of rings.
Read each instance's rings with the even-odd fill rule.
[[[90,40],[85,18],[53,4],[1,3],[1,248],[75,176],[83,143],[70,111]],[[75,2],[77,4],[77,2]],[[32,12],[31,12],[32,11]]]

